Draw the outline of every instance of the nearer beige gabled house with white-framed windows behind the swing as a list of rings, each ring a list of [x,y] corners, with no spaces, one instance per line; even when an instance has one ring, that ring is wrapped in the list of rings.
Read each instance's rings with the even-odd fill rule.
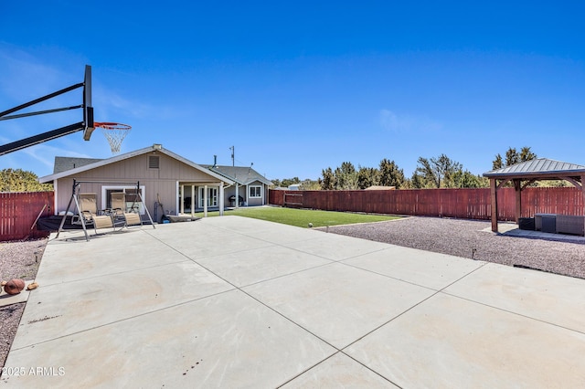
[[[68,208],[74,180],[80,183],[80,193],[97,195],[101,209],[111,206],[112,193],[124,192],[134,201],[139,198],[136,196],[139,191],[141,215],[147,218],[146,205],[155,221],[160,221],[163,215],[208,209],[219,210],[223,215],[225,188],[237,184],[160,144],[103,160],[56,157],[54,172],[38,179],[54,185],[55,215]]]

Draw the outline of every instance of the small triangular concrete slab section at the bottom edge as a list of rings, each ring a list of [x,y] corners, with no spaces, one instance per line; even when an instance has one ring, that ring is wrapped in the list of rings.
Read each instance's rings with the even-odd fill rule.
[[[283,388],[398,388],[342,352],[282,386]]]

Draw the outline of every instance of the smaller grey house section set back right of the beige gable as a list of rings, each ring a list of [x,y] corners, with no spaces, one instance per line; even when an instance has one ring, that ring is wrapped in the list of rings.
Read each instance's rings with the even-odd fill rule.
[[[230,206],[267,204],[268,189],[272,182],[252,169],[251,166],[221,166],[217,164],[202,166],[235,183],[225,189],[226,199]],[[239,198],[238,204],[236,204],[236,193],[238,193]]]

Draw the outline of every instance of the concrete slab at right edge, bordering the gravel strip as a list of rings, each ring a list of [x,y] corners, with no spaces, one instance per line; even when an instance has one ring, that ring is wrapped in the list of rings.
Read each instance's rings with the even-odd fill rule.
[[[490,263],[444,291],[585,333],[585,279]]]

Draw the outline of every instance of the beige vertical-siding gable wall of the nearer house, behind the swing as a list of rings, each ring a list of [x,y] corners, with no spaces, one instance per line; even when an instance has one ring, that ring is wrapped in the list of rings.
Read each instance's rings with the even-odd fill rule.
[[[159,168],[151,169],[148,167],[148,157],[150,155],[159,156]],[[169,157],[162,152],[149,152],[105,166],[101,166],[90,171],[75,174],[74,176],[61,178],[58,180],[58,194],[56,198],[57,209],[64,211],[67,208],[71,198],[71,189],[73,179],[77,181],[98,181],[99,183],[80,184],[80,193],[95,193],[98,196],[98,207],[104,204],[101,197],[102,186],[112,186],[115,183],[125,183],[129,186],[137,181],[144,185],[144,205],[154,218],[154,202],[157,198],[164,205],[165,213],[176,215],[178,213],[177,203],[178,194],[176,193],[177,182],[197,185],[219,185],[217,178],[201,172],[191,166],[186,165],[174,158]],[[69,207],[73,211],[74,205]],[[160,218],[161,209],[158,209]]]

